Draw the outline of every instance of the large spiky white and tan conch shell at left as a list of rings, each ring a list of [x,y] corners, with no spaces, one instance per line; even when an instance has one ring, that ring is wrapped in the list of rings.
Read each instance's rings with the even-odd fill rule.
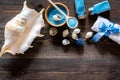
[[[41,28],[45,26],[42,9],[39,13],[30,9],[24,2],[22,11],[5,25],[5,43],[0,56],[9,52],[13,55],[24,53],[36,37],[42,37]]]

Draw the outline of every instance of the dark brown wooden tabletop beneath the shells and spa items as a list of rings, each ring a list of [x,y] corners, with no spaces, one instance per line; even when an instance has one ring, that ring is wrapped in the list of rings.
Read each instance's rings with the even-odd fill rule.
[[[24,0],[0,0],[0,48],[4,43],[4,26],[21,9]],[[71,16],[76,16],[74,0],[53,0],[68,6]],[[103,0],[85,0],[86,19],[79,21],[81,37],[98,15],[89,16],[87,9]],[[111,10],[100,14],[120,24],[120,0],[109,0]],[[31,8],[47,7],[47,0],[28,0]],[[99,43],[86,42],[83,47],[74,43],[62,46],[61,33],[56,37],[48,34],[50,26],[42,30],[44,38],[36,38],[34,48],[25,55],[9,53],[0,58],[0,80],[120,80],[120,45],[103,37]],[[62,30],[66,27],[62,27]],[[61,28],[60,28],[61,29]],[[61,31],[62,32],[62,31]]]

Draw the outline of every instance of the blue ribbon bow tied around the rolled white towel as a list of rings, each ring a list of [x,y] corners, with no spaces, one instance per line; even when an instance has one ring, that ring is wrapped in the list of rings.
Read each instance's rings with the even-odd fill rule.
[[[96,33],[93,37],[92,40],[96,43],[98,42],[104,35],[109,37],[110,34],[117,34],[120,33],[120,27],[115,27],[114,23],[110,23],[109,25],[106,25],[105,23],[100,23],[99,25],[99,32]]]

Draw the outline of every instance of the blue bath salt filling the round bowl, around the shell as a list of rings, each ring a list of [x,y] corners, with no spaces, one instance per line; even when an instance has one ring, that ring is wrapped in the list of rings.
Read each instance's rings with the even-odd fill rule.
[[[67,10],[63,7],[63,6],[60,6],[60,5],[57,5],[66,15],[67,15]],[[62,18],[62,20],[60,21],[55,21],[53,19],[53,16],[54,15],[60,15],[60,17]],[[64,15],[62,15],[56,8],[52,7],[50,8],[50,10],[48,11],[48,20],[54,24],[54,25],[60,25],[60,24],[63,24],[64,22],[66,22],[66,18],[64,17]]]

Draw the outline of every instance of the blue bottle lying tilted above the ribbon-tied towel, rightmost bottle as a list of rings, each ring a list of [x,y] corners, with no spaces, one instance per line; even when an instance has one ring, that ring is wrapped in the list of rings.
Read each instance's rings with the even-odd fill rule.
[[[108,0],[95,4],[93,7],[88,9],[91,15],[99,14],[110,10],[110,4]]]

